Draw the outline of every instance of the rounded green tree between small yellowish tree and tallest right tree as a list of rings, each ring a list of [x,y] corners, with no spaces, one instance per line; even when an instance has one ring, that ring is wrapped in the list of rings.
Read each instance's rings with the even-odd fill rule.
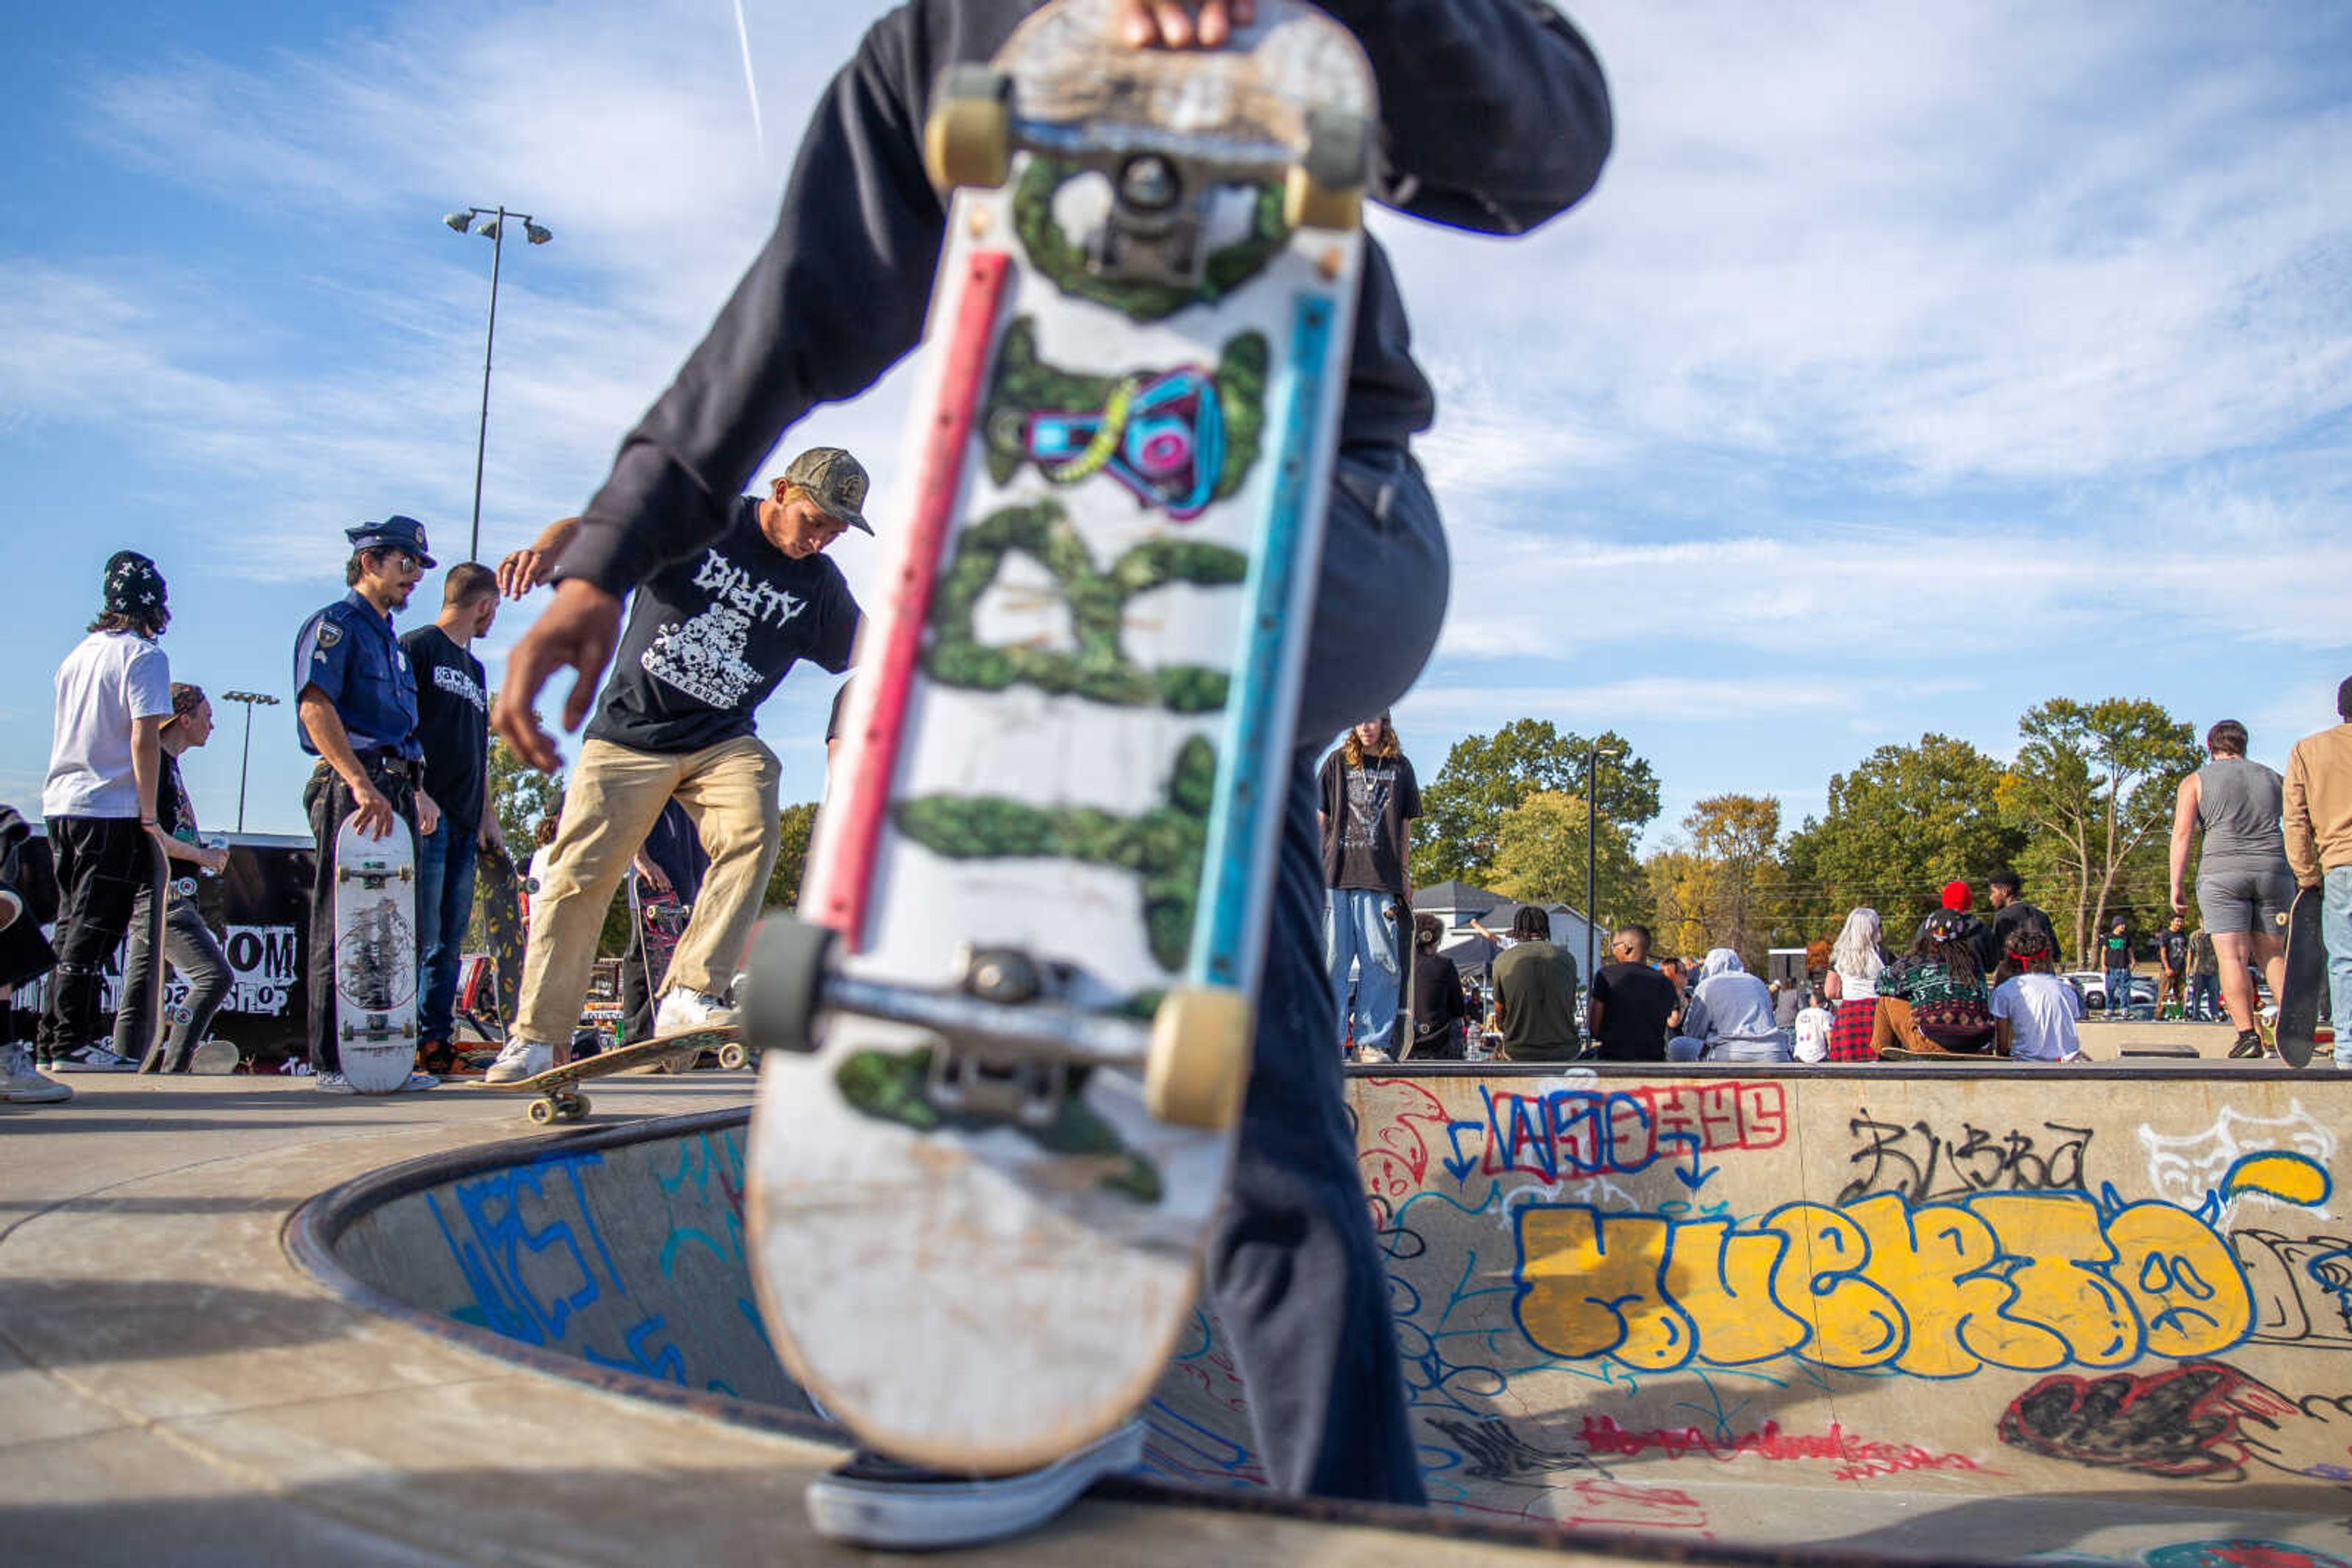
[[[1882,745],[1851,773],[1830,776],[1820,820],[1790,835],[1790,912],[1806,931],[1835,931],[1856,905],[1907,931],[1936,907],[1945,882],[1983,884],[2016,865],[2025,830],[2002,811],[2002,764],[1966,741],[1926,733]]]

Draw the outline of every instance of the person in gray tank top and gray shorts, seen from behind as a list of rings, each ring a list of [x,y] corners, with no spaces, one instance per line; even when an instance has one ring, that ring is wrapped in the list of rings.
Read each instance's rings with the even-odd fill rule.
[[[2296,872],[2286,865],[2279,827],[2284,783],[2246,757],[2246,726],[2237,719],[2206,731],[2206,752],[2213,762],[2183,778],[2173,802],[2173,910],[2187,914],[2183,877],[2190,839],[2204,830],[2197,910],[2213,933],[2223,1006],[2237,1025],[2230,1056],[2260,1056],[2251,966],[2263,966],[2277,997],[2286,983],[2286,907],[2296,900]]]

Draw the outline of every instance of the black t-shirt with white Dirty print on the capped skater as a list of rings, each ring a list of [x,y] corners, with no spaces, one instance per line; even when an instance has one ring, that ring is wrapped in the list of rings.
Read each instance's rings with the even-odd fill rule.
[[[842,569],[771,545],[760,498],[741,496],[715,543],[637,588],[588,733],[668,755],[748,736],[795,661],[840,675],[856,637],[858,602]]]

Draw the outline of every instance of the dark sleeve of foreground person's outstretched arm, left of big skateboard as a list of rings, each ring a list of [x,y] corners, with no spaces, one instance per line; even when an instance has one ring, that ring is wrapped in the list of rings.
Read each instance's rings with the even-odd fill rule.
[[[628,592],[717,538],[776,437],[856,397],[922,336],[946,214],[922,172],[931,66],[906,9],[816,106],[776,230],[670,390],[621,442],[557,578]]]

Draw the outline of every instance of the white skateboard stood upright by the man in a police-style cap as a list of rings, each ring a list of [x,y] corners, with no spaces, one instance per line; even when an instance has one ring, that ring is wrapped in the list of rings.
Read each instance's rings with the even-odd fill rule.
[[[393,820],[365,837],[355,818],[334,835],[334,1027],[343,1077],[383,1095],[416,1067],[416,844]]]

